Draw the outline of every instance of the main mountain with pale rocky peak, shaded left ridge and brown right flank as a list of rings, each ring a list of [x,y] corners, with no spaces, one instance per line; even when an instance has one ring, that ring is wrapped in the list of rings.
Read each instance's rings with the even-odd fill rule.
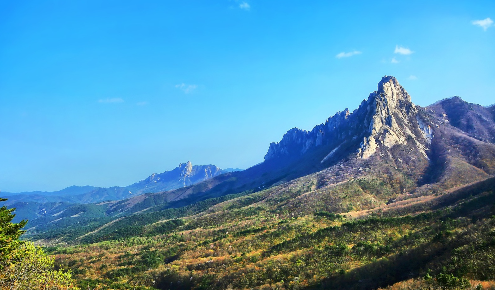
[[[494,128],[489,123],[475,127],[485,125]],[[185,198],[198,201],[258,191],[322,170],[328,172],[329,182],[340,182],[376,170],[371,166],[377,164],[407,172],[417,188],[402,190],[461,185],[494,172],[489,161],[494,157],[494,145],[469,134],[416,106],[396,78],[386,76],[377,91],[352,113],[348,109],[338,112],[309,132],[289,130],[281,141],[270,144],[261,164],[191,187],[119,201],[110,205],[110,211],[134,212]],[[454,151],[453,146],[459,150]],[[391,172],[383,174],[395,178]]]

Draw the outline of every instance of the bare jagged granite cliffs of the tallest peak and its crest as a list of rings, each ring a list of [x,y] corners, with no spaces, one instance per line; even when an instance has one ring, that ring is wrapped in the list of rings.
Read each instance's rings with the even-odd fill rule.
[[[417,149],[426,156],[433,134],[407,91],[396,78],[385,76],[378,83],[377,91],[352,113],[348,109],[338,112],[309,132],[297,128],[289,130],[280,142],[270,144],[265,161],[300,157],[326,145],[332,148],[322,162],[330,160],[337,151],[348,149],[349,145],[356,157],[368,159],[379,148],[406,145],[407,139],[414,140]]]

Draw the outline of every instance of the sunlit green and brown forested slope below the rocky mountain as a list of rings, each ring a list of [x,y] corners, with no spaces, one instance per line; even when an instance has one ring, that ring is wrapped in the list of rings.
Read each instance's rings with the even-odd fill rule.
[[[374,289],[442,266],[457,276],[495,279],[487,271],[495,262],[494,179],[397,196],[411,187],[400,171],[325,184],[332,174],[53,251],[82,286],[113,289]]]

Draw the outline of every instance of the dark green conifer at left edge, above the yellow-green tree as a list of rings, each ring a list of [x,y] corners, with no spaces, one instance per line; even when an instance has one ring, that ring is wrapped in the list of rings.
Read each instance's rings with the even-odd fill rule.
[[[5,198],[0,198],[0,202],[6,200]],[[19,241],[19,237],[25,232],[21,228],[26,225],[27,221],[12,223],[11,221],[15,217],[12,214],[14,210],[15,208],[7,209],[6,206],[0,208],[0,260],[9,259],[10,254],[22,244]]]

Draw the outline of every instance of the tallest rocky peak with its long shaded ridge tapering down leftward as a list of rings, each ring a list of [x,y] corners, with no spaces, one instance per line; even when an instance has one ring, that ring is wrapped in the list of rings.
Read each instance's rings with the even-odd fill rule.
[[[309,132],[289,130],[280,142],[270,144],[261,164],[190,187],[116,202],[111,209],[132,212],[185,198],[257,191],[340,165],[348,171],[341,178],[356,177],[359,168],[377,160],[408,168],[417,181],[428,167],[426,151],[433,137],[419,111],[398,81],[386,76],[354,112],[339,112]]]

